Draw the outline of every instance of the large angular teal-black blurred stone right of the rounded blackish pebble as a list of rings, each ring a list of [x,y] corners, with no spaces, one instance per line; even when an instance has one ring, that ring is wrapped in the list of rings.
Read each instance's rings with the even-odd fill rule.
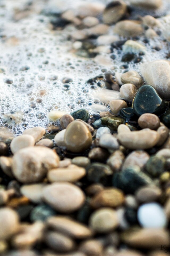
[[[152,179],[140,168],[127,168],[119,173],[113,174],[112,185],[123,190],[126,194],[134,193],[137,189],[145,185],[151,185]]]

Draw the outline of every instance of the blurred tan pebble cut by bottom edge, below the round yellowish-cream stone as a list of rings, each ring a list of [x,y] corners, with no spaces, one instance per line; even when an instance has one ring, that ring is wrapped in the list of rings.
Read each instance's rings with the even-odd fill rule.
[[[100,241],[95,239],[83,241],[79,246],[79,250],[85,253],[87,256],[103,255],[103,245]]]

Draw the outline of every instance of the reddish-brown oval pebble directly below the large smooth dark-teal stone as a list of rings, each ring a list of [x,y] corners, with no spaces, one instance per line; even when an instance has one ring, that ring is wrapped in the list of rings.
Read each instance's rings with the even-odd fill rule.
[[[138,124],[142,129],[149,128],[156,130],[160,126],[160,119],[157,115],[145,113],[139,117]]]

